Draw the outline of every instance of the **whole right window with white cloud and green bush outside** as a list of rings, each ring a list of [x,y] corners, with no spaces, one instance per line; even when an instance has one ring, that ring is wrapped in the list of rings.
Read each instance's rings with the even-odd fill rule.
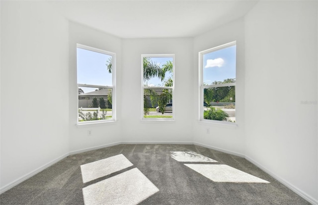
[[[199,52],[200,120],[236,122],[236,41]]]

